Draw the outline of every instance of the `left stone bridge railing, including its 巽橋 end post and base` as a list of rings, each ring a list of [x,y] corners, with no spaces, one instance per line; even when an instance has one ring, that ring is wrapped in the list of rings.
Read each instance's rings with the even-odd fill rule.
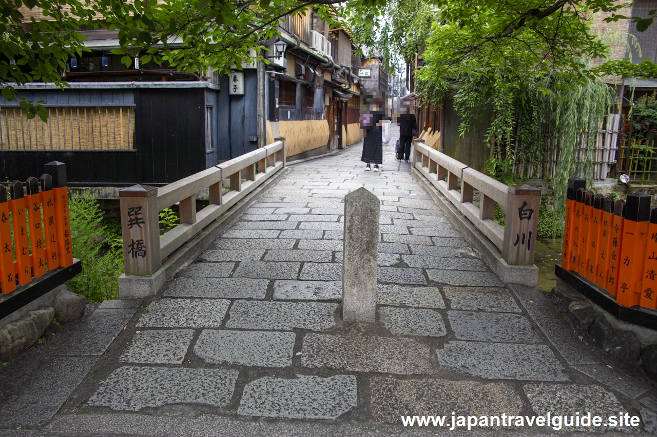
[[[141,288],[139,293],[125,295],[156,294],[166,281],[163,260],[284,167],[285,139],[276,138],[272,144],[166,186],[139,184],[121,190],[125,275],[119,278],[120,293],[123,287]],[[222,192],[224,178],[230,180],[227,194]],[[197,213],[196,195],[205,188],[210,192],[210,205]],[[160,236],[158,215],[175,203],[179,203],[180,224]]]

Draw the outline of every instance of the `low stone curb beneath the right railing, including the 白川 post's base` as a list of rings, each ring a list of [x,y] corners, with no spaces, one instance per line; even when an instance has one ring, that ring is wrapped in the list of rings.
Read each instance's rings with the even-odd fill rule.
[[[424,191],[438,204],[457,229],[461,231],[463,238],[472,245],[482,260],[488,264],[491,270],[502,281],[527,285],[528,287],[536,286],[538,283],[537,266],[510,266],[507,264],[502,258],[502,254],[497,250],[497,247],[468,218],[461,214],[449,200],[445,199],[445,196],[436,190],[415,167],[411,169],[411,175],[417,179],[420,186],[424,188]]]

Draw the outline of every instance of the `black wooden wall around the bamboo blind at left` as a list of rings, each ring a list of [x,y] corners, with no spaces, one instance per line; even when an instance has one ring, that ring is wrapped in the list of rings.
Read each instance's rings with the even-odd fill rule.
[[[53,160],[66,163],[68,182],[77,186],[164,185],[206,169],[205,89],[137,89],[129,91],[131,96],[125,90],[62,94],[67,92],[51,91],[46,101],[71,106],[81,104],[80,97],[88,97],[87,104],[134,102],[136,150],[1,150],[1,180],[39,177]]]

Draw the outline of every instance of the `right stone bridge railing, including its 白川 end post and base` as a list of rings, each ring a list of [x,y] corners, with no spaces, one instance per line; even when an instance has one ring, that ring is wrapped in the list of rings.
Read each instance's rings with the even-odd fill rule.
[[[501,252],[494,254],[500,261],[496,262],[497,274],[505,281],[535,285],[537,268],[522,272],[512,266],[533,266],[541,190],[507,186],[426,146],[420,138],[413,144],[417,172]],[[478,205],[473,202],[474,190],[480,192]],[[504,226],[494,220],[495,203],[506,211]]]

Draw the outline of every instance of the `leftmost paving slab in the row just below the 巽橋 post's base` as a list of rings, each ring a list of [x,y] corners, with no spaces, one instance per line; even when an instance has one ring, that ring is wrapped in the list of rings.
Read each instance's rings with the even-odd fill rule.
[[[137,321],[144,327],[219,327],[231,301],[226,299],[160,299]]]

